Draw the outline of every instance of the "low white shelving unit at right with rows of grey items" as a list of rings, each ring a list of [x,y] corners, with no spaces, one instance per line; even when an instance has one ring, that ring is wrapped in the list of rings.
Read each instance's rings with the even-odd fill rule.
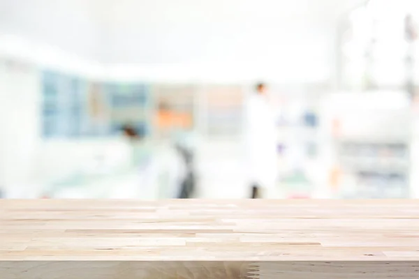
[[[380,107],[378,99],[389,102]],[[411,197],[408,93],[337,93],[323,105],[329,197]]]

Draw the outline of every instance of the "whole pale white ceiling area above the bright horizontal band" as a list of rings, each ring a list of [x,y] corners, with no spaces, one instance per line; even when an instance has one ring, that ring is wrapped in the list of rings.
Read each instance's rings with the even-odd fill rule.
[[[0,0],[0,32],[103,63],[280,62],[326,55],[339,15],[362,2]]]

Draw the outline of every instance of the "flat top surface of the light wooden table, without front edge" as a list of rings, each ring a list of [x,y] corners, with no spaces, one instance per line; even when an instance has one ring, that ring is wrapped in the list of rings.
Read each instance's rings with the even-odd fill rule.
[[[406,200],[0,200],[0,261],[419,260]]]

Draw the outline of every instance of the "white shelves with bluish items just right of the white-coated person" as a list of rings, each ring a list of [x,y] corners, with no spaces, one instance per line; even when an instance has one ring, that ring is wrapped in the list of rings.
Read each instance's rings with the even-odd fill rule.
[[[272,88],[277,109],[279,180],[277,197],[315,197],[320,183],[318,134],[321,96],[327,84]]]

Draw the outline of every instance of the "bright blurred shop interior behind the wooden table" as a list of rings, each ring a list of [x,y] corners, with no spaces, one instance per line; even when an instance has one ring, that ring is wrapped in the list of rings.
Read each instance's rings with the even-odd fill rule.
[[[0,0],[0,197],[247,198],[246,135],[274,144],[264,198],[419,197],[418,22],[417,0]]]

